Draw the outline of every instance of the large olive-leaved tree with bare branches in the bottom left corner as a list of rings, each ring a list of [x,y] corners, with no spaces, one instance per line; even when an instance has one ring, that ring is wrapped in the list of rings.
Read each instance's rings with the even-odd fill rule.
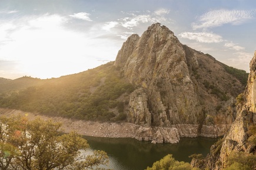
[[[61,123],[26,117],[0,117],[0,169],[101,169],[104,151],[81,154],[87,141],[76,132],[62,134]]]

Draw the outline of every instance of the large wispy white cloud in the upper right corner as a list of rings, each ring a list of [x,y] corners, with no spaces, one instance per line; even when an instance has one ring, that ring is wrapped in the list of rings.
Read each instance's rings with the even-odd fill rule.
[[[232,25],[240,25],[241,23],[254,18],[255,14],[255,10],[214,10],[204,13],[204,15],[200,16],[197,23],[192,23],[192,28],[194,30],[202,28],[212,28],[224,25],[225,23],[231,23]]]

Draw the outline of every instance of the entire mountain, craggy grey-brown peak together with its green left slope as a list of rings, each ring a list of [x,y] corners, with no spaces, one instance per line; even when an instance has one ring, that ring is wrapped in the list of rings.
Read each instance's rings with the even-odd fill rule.
[[[130,36],[115,62],[31,86],[0,91],[0,106],[39,114],[140,125],[138,140],[224,135],[235,120],[235,97],[248,74],[182,45],[155,23]],[[28,77],[26,77],[28,78]],[[32,80],[32,78],[30,78]],[[30,81],[29,79],[29,81]],[[27,81],[28,82],[28,81]],[[26,87],[26,89],[24,89]]]

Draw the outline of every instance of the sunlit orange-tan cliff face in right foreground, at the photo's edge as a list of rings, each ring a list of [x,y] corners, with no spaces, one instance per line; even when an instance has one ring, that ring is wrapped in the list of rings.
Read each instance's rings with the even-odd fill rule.
[[[256,123],[256,51],[250,62],[250,74],[247,87],[244,91],[244,103],[237,107],[237,118],[231,125],[230,131],[224,137],[220,155],[214,158],[214,155],[208,155],[207,159],[214,160],[213,164],[208,164],[211,169],[222,169],[227,164],[227,159],[231,151],[252,152],[253,146],[248,144],[248,127]],[[255,146],[254,146],[255,147]],[[210,161],[209,161],[210,162]],[[218,162],[218,164],[217,164]]]

